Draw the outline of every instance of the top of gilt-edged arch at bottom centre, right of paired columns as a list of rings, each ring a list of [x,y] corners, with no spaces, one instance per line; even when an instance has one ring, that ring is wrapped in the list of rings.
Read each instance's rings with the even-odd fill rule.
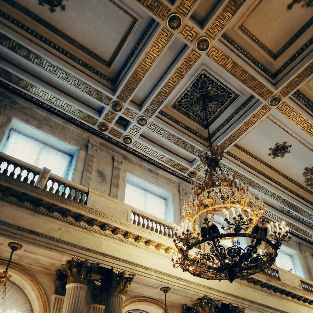
[[[162,313],[165,306],[153,299],[139,298],[126,302],[123,313]],[[168,313],[171,313],[168,310]]]

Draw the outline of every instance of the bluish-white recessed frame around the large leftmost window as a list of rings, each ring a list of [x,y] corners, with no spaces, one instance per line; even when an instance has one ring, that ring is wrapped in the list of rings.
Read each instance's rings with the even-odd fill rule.
[[[6,145],[8,138],[10,136],[10,131],[13,130],[23,136],[29,137],[33,140],[40,142],[43,145],[49,146],[57,151],[60,151],[68,156],[72,157],[72,161],[66,171],[65,179],[73,180],[74,170],[76,168],[77,160],[78,160],[78,152],[79,149],[74,147],[67,142],[61,141],[59,138],[51,136],[50,134],[41,131],[33,126],[25,124],[22,121],[17,119],[12,119],[5,135],[3,136],[3,140],[0,144],[0,151],[3,151],[3,147]],[[30,164],[30,163],[29,163]],[[53,173],[54,174],[54,173]],[[56,175],[56,174],[54,174]]]

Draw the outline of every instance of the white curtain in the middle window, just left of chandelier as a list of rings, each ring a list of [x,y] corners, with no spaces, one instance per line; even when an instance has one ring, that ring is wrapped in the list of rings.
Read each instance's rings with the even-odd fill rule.
[[[166,219],[166,200],[130,183],[126,183],[125,203],[156,217]]]

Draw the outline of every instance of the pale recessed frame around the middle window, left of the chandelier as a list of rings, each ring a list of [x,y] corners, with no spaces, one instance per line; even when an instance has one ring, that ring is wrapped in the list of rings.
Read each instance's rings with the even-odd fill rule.
[[[174,221],[174,194],[172,192],[170,192],[170,191],[168,191],[168,190],[166,190],[166,189],[164,189],[158,185],[155,185],[152,182],[149,182],[149,181],[147,181],[141,177],[138,177],[138,176],[136,176],[130,172],[126,173],[125,190],[126,190],[126,184],[127,183],[129,183],[129,184],[131,184],[131,185],[133,185],[139,189],[142,189],[146,192],[150,192],[159,198],[166,200],[165,218],[160,218],[160,219],[163,219],[167,222],[173,223],[173,221]],[[125,195],[126,195],[126,192],[125,192]],[[124,202],[125,202],[125,195],[124,195]],[[129,205],[131,205],[131,204],[129,204]],[[136,208],[135,206],[133,206],[133,207]]]

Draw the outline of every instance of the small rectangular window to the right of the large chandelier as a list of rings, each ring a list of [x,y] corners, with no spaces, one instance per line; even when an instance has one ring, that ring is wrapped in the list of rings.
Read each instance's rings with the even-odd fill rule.
[[[305,278],[299,256],[294,250],[282,246],[278,250],[278,256],[276,258],[275,264],[281,269],[285,269],[286,271]]]

